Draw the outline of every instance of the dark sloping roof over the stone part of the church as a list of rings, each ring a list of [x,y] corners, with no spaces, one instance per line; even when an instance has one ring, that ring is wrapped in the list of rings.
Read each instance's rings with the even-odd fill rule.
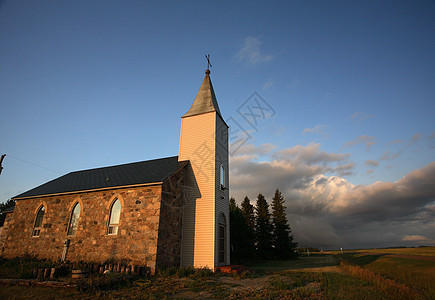
[[[71,172],[13,199],[162,182],[186,162],[178,156]]]

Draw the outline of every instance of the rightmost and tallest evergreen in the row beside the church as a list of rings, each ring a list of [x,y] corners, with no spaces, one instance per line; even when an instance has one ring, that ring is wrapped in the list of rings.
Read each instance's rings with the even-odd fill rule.
[[[294,256],[294,248],[297,246],[297,243],[293,242],[293,236],[290,235],[291,230],[285,209],[284,197],[276,189],[275,196],[272,199],[273,247],[275,257],[280,259]]]

